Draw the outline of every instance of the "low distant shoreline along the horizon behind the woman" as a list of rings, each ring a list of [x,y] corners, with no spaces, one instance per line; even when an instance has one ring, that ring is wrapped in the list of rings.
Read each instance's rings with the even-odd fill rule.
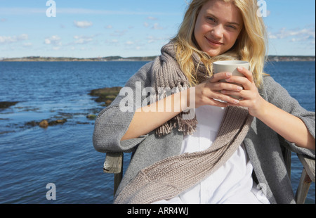
[[[157,56],[130,57],[110,56],[104,58],[54,58],[30,56],[24,58],[0,58],[2,62],[106,62],[106,61],[152,61]],[[315,61],[315,56],[268,56],[268,61]]]

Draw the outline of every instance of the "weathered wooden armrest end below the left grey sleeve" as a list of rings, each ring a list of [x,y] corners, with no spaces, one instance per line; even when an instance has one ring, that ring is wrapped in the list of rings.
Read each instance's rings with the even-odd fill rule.
[[[119,174],[123,167],[123,153],[107,153],[103,164],[103,172]]]

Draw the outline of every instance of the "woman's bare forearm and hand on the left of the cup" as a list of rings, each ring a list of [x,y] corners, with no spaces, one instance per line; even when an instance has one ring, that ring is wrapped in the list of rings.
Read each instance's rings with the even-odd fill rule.
[[[220,82],[220,80],[229,79],[230,77],[232,77],[230,73],[218,73],[197,86],[167,96],[166,98],[143,108],[138,108],[131,121],[129,129],[121,140],[134,139],[138,136],[145,135],[157,127],[160,127],[183,110],[199,108],[202,105],[214,105],[225,108],[228,106],[228,103],[239,103],[236,99],[220,93],[220,91],[223,90],[241,91],[239,90],[240,86]],[[195,99],[192,99],[192,97]],[[219,99],[227,103],[216,101],[214,99]],[[191,104],[190,101],[194,102],[195,105]],[[166,108],[168,110],[166,110]],[[149,120],[150,122],[148,122]]]

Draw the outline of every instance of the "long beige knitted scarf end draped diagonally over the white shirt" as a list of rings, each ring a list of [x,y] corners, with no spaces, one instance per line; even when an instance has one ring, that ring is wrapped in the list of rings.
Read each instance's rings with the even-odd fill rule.
[[[153,203],[179,195],[222,166],[244,141],[253,117],[246,108],[229,107],[216,140],[207,150],[166,158],[142,169],[114,203]]]

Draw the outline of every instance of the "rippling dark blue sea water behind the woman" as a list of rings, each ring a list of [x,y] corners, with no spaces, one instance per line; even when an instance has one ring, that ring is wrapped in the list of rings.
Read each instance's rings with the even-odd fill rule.
[[[113,175],[93,148],[94,120],[103,106],[92,89],[124,86],[145,62],[0,62],[0,203],[112,203]],[[265,71],[303,108],[315,111],[315,62],[273,62]],[[67,119],[42,129],[32,122]],[[129,154],[124,169],[129,164]],[[296,190],[302,166],[293,155]],[[55,200],[48,200],[55,184]],[[315,203],[312,184],[306,203]]]

